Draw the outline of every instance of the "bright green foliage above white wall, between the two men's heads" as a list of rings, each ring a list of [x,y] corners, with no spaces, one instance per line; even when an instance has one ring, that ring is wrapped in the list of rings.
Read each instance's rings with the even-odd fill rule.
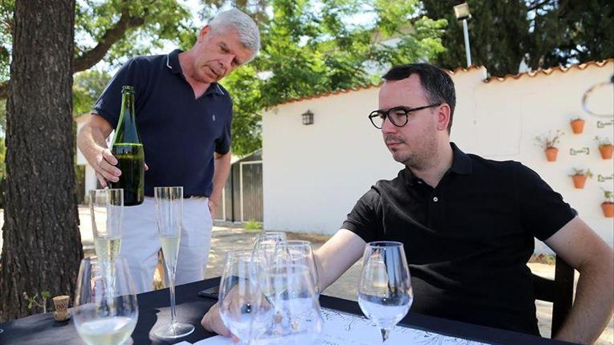
[[[209,13],[227,3],[205,2]],[[237,155],[260,147],[262,109],[370,84],[391,65],[428,61],[444,51],[439,37],[446,21],[422,16],[417,0],[271,0],[269,6],[272,15],[267,16],[244,8],[260,18],[262,49],[255,61],[222,81],[234,96],[232,151]],[[352,24],[359,14],[373,21]],[[396,47],[380,43],[390,38],[398,39]]]

